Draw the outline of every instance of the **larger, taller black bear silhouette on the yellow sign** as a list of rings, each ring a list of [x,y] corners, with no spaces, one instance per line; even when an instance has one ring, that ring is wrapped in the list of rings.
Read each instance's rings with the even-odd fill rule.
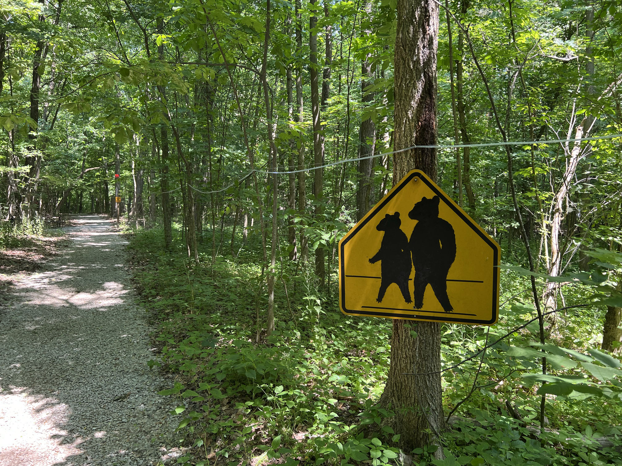
[[[432,285],[434,295],[446,313],[453,311],[447,296],[447,273],[456,258],[456,235],[448,221],[439,218],[439,196],[423,198],[408,212],[417,220],[409,248],[415,267],[415,309],[424,305],[425,287]]]

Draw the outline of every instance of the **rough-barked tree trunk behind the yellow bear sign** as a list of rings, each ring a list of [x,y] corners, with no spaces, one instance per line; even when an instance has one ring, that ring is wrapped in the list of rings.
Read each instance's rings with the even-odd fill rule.
[[[436,144],[436,52],[439,9],[432,0],[398,0],[395,43],[394,148]],[[393,183],[408,171],[437,178],[434,148],[411,149],[394,155]],[[413,371],[420,375],[412,374]],[[439,445],[444,427],[440,385],[440,324],[394,319],[391,367],[381,404],[396,412],[394,430],[404,455],[424,445]],[[431,431],[432,434],[429,434]],[[410,462],[408,457],[405,462]]]

